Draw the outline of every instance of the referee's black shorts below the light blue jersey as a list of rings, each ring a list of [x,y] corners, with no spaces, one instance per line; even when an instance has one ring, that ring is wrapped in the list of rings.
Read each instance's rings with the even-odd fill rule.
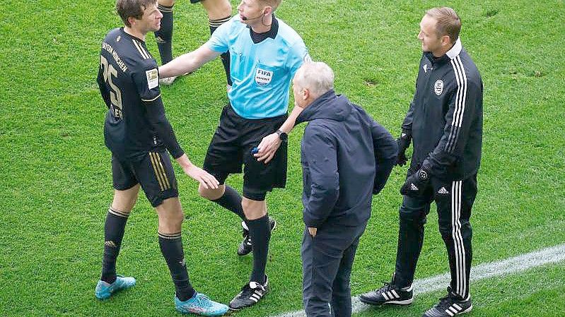
[[[233,111],[230,104],[223,107],[220,124],[212,138],[204,170],[214,175],[223,184],[229,174],[241,173],[243,169],[243,196],[254,201],[264,201],[267,191],[284,188],[286,185],[286,142],[273,159],[264,164],[257,162],[251,154],[261,140],[274,133],[286,120],[287,115],[266,119],[245,119]]]

